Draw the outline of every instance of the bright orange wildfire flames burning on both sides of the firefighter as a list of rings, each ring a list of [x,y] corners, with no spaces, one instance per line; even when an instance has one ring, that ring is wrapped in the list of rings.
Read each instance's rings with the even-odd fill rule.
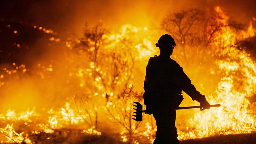
[[[255,37],[256,31],[251,21],[247,30],[234,30],[229,26],[229,17],[223,9],[219,6],[214,9],[216,22],[221,28],[214,33],[213,42],[210,43],[209,53],[216,56],[212,60],[215,61],[216,69],[212,68],[210,74],[219,75],[220,79],[216,83],[215,91],[207,98],[210,103],[220,103],[222,106],[202,112],[196,111],[188,119],[182,120],[183,129],[179,129],[182,126],[177,125],[180,140],[256,131],[256,116],[252,109],[249,109],[255,107],[256,103],[250,103],[246,99],[256,92],[256,64],[245,50],[236,45],[238,41]],[[33,28],[57,35],[53,30],[41,26]],[[156,126],[152,115],[143,116],[145,118],[141,123],[134,122],[132,103],[135,100],[142,101],[142,93],[137,91],[141,90],[138,87],[142,88],[138,83],[143,81],[137,79],[144,79],[148,58],[157,54],[152,40],[155,41],[157,37],[148,36],[148,33],[153,33],[150,28],[137,28],[128,24],[115,33],[100,33],[102,31],[99,27],[93,29],[93,32],[87,33],[84,39],[77,38],[74,41],[71,38],[65,42],[56,37],[49,38],[49,41],[59,45],[63,43],[63,48],[69,52],[64,60],[61,58],[61,62],[65,61],[64,65],[59,61],[59,65],[54,61],[50,61],[50,64],[36,62],[33,70],[24,64],[11,63],[9,67],[2,69],[1,88],[11,87],[11,80],[8,78],[19,79],[26,74],[27,77],[22,77],[23,79],[55,79],[58,83],[53,86],[54,89],[61,89],[58,91],[60,93],[63,91],[59,95],[69,95],[67,99],[62,98],[64,103],[61,107],[35,107],[23,112],[8,108],[6,113],[0,114],[0,122],[6,126],[1,125],[3,128],[0,128],[0,133],[4,135],[4,138],[0,139],[2,142],[32,144],[32,134],[53,135],[58,129],[70,127],[80,129],[81,133],[100,136],[104,134],[104,130],[99,127],[111,124],[115,124],[113,127],[119,131],[122,142],[139,144],[135,137],[143,137],[148,142],[153,142]],[[15,30],[13,33],[19,34],[20,31]],[[184,41],[181,43],[184,44]],[[81,45],[82,48],[78,49]],[[33,77],[30,73],[34,74]],[[67,75],[59,76],[60,73]],[[59,86],[60,79],[65,79],[65,87]],[[208,85],[204,87],[207,89]],[[76,93],[67,94],[66,89]],[[44,89],[43,92],[45,91],[47,90]],[[57,92],[52,91],[55,96]],[[47,92],[46,94],[50,93]],[[14,129],[13,126],[16,125],[22,129]],[[51,137],[47,136],[46,139]]]

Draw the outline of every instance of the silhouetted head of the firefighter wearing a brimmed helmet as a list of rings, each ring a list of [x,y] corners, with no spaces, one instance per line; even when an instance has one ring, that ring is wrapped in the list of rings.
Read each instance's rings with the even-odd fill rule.
[[[159,47],[160,52],[165,55],[172,55],[174,46],[176,46],[174,39],[168,34],[162,35],[156,43],[156,47]]]

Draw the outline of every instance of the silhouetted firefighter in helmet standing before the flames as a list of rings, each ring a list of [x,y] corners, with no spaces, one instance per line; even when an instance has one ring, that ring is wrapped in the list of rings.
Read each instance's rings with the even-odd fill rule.
[[[160,55],[148,60],[144,81],[146,113],[153,114],[156,120],[157,131],[153,144],[178,144],[175,109],[183,100],[182,90],[200,103],[201,111],[209,109],[210,104],[191,84],[182,67],[170,58],[176,46],[173,37],[162,35],[156,46],[160,48]]]

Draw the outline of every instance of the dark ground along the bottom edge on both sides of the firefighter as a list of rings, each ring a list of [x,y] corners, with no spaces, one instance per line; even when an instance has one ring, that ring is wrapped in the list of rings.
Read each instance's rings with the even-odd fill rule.
[[[150,144],[145,137],[135,139],[139,144]],[[30,140],[36,144],[128,144],[121,142],[119,134],[88,135],[74,129],[56,130],[53,134],[40,133],[30,136]],[[256,144],[256,132],[181,140],[180,144]]]

